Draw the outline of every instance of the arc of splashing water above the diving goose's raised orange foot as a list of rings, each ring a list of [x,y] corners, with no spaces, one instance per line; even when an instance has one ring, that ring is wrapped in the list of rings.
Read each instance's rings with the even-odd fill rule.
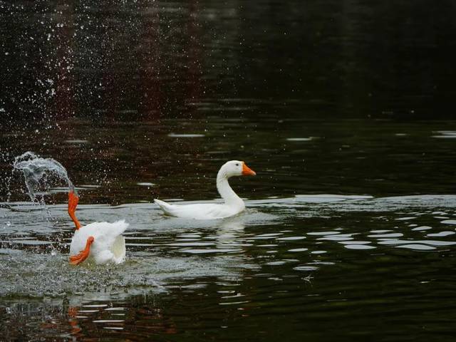
[[[42,198],[41,200],[37,199],[38,188],[40,183],[46,183],[46,179],[51,175],[64,180],[68,185],[68,190],[76,192],[73,183],[68,178],[65,167],[52,158],[43,158],[28,151],[14,158],[13,167],[14,170],[21,170],[24,174],[28,195],[33,202],[43,202]]]

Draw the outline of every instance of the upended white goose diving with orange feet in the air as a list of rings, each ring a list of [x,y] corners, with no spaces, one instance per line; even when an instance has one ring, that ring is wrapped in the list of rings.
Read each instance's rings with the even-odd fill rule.
[[[76,227],[70,246],[70,264],[83,261],[95,261],[95,264],[120,264],[125,260],[125,238],[122,233],[128,223],[93,222],[81,227],[76,219],[76,206],[79,197],[75,192],[68,192],[68,214]]]

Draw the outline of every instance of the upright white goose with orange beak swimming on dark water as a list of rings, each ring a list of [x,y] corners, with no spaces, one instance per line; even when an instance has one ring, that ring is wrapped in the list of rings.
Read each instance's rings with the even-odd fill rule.
[[[228,184],[233,176],[257,175],[244,162],[232,160],[220,167],[217,174],[217,190],[224,199],[224,204],[168,204],[154,199],[165,214],[187,219],[222,219],[239,214],[245,209],[244,201],[236,195]]]

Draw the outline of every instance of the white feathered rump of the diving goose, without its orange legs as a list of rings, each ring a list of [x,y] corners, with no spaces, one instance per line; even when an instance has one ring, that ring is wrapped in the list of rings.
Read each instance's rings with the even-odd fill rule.
[[[127,227],[128,223],[124,220],[113,223],[94,222],[81,227],[71,240],[70,256],[85,249],[88,237],[93,237],[86,261],[95,261],[95,264],[122,263],[125,261],[125,238],[122,233]]]

